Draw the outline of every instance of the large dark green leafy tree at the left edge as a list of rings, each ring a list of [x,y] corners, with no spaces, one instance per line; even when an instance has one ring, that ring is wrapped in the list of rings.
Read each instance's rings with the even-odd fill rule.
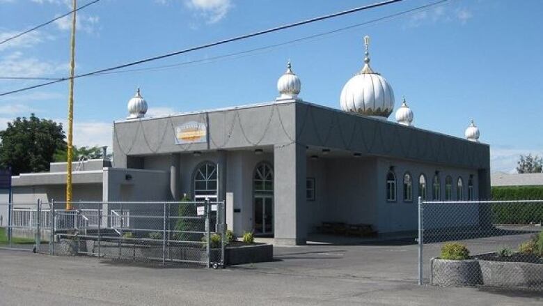
[[[62,124],[40,119],[17,117],[0,131],[0,167],[11,167],[13,174],[49,170],[58,150],[65,150]]]

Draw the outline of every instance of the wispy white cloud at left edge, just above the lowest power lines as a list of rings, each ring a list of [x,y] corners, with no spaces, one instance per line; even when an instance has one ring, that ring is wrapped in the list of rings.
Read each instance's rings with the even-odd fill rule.
[[[0,58],[0,71],[10,77],[42,77],[67,69],[66,64],[51,63],[27,57],[20,51]]]

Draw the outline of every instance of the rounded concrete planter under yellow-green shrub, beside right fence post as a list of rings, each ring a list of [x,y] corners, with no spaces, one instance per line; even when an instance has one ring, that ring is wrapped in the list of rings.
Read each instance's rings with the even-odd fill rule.
[[[482,284],[479,261],[432,258],[431,284],[438,286],[475,286]]]

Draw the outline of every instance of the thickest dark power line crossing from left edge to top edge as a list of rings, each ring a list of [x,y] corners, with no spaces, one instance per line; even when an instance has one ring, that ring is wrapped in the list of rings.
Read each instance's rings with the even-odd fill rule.
[[[97,0],[95,0],[97,1]],[[403,1],[403,0],[388,0],[388,1],[382,1],[382,2],[378,2],[378,3],[373,3],[373,4],[370,4],[368,6],[361,6],[361,7],[358,7],[358,8],[352,8],[350,10],[343,10],[341,12],[338,12],[338,13],[333,13],[333,14],[329,14],[329,15],[324,15],[324,16],[320,16],[320,17],[315,17],[315,18],[311,18],[309,20],[303,20],[303,21],[300,21],[300,22],[294,22],[292,24],[285,24],[283,26],[276,26],[272,29],[266,29],[266,30],[262,30],[262,31],[257,31],[257,32],[253,32],[253,33],[249,33],[249,34],[244,34],[242,36],[237,36],[237,37],[234,37],[234,38],[228,38],[228,39],[225,39],[225,40],[219,40],[219,41],[216,41],[214,43],[207,43],[205,45],[199,45],[199,46],[196,46],[196,47],[190,47],[188,49],[182,49],[180,51],[176,51],[176,52],[171,52],[171,53],[167,53],[167,54],[162,54],[162,55],[159,55],[159,56],[153,56],[153,57],[150,57],[148,59],[141,59],[139,61],[132,61],[130,63],[125,63],[125,64],[122,64],[122,65],[118,65],[118,66],[113,66],[111,68],[105,68],[105,69],[102,69],[102,70],[96,70],[96,71],[93,71],[93,72],[87,72],[87,73],[84,73],[84,74],[81,74],[81,75],[75,75],[73,78],[76,79],[76,78],[79,78],[79,77],[88,77],[89,75],[96,75],[98,73],[102,73],[102,72],[108,72],[108,71],[112,71],[112,70],[118,70],[120,68],[126,68],[126,67],[129,67],[129,66],[135,66],[135,65],[139,65],[139,64],[142,64],[142,63],[148,63],[150,61],[157,61],[159,59],[165,59],[167,57],[171,57],[171,56],[175,56],[175,55],[179,55],[179,54],[184,54],[184,53],[189,53],[189,52],[193,52],[193,51],[196,51],[196,50],[200,50],[200,49],[205,49],[205,48],[208,48],[208,47],[214,47],[214,46],[217,46],[217,45],[223,45],[223,44],[226,44],[226,43],[232,43],[232,42],[235,42],[237,40],[244,40],[246,38],[251,38],[251,37],[255,37],[255,36],[261,36],[261,35],[264,35],[264,34],[267,34],[267,33],[272,33],[272,32],[276,32],[276,31],[281,31],[281,30],[284,30],[284,29],[290,29],[290,28],[293,28],[295,26],[301,26],[301,25],[304,25],[304,24],[310,24],[310,23],[313,23],[313,22],[319,22],[319,21],[322,21],[322,20],[328,20],[328,19],[331,19],[331,18],[334,18],[334,17],[339,17],[339,16],[343,16],[343,15],[347,15],[347,14],[351,14],[351,13],[356,13],[356,12],[359,12],[359,11],[362,11],[362,10],[368,10],[370,8],[377,8],[379,6],[386,6],[388,4],[392,4],[392,3],[396,3],[396,2],[400,2],[400,1]],[[36,88],[39,88],[39,87],[42,87],[42,86],[48,86],[48,85],[51,85],[51,84],[56,84],[56,83],[59,83],[59,82],[63,82],[63,81],[66,81],[70,79],[70,77],[63,77],[62,79],[56,79],[52,82],[46,82],[46,83],[41,83],[41,84],[36,84],[36,85],[33,85],[33,86],[28,86],[28,87],[24,87],[22,89],[16,89],[14,91],[6,91],[4,93],[0,93],[0,96],[3,96],[3,95],[10,95],[10,94],[13,94],[13,93],[19,93],[19,92],[22,92],[22,91],[28,91],[30,89],[36,89]]]

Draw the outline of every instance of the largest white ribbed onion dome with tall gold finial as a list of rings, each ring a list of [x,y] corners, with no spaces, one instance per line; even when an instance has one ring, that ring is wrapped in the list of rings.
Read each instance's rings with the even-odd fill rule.
[[[364,37],[364,67],[343,86],[341,109],[386,119],[394,110],[394,92],[384,77],[370,67],[370,37]]]

